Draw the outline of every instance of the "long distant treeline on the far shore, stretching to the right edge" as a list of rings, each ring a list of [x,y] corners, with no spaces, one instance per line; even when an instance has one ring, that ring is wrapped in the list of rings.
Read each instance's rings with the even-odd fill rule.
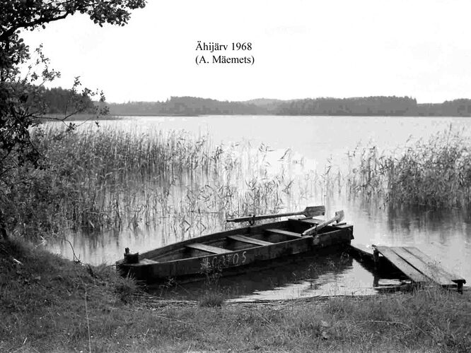
[[[197,97],[171,97],[165,102],[109,104],[112,115],[360,115],[360,116],[471,116],[471,100],[417,104],[412,97],[315,98],[228,102]]]

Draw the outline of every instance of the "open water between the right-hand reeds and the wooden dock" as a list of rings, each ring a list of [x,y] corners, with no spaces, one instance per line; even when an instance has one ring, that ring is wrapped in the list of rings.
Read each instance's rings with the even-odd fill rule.
[[[415,246],[444,268],[471,278],[471,229],[466,210],[371,208],[356,212],[349,205],[355,242],[386,246]],[[366,211],[368,217],[361,215]]]

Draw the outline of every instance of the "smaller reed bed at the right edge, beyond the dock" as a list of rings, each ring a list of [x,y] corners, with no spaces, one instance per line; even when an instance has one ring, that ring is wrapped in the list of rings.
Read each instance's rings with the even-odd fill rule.
[[[349,154],[344,185],[350,195],[383,199],[389,205],[463,208],[471,201],[471,140],[447,131],[395,151],[375,145]],[[353,162],[352,162],[353,161]]]

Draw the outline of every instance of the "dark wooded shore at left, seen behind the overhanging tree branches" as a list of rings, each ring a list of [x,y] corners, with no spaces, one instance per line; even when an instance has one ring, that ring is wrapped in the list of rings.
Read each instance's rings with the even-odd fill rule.
[[[71,114],[77,107],[82,113],[93,112],[94,103],[88,96],[64,88],[46,88],[41,92],[42,106],[47,114]]]

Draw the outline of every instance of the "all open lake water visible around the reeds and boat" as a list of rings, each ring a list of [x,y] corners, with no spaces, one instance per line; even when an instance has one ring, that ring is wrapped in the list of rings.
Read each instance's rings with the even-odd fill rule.
[[[150,131],[184,130],[191,136],[209,135],[215,145],[246,143],[261,145],[267,152],[267,166],[277,169],[287,150],[295,160],[292,175],[308,171],[322,173],[327,165],[342,169],[347,152],[374,144],[382,150],[401,150],[418,139],[429,139],[439,131],[462,130],[470,134],[471,119],[443,117],[377,116],[129,116],[100,122],[100,128],[149,134]],[[81,128],[95,128],[85,124]],[[242,157],[243,158],[243,157]],[[248,167],[246,177],[254,172]],[[343,209],[354,225],[358,244],[417,246],[445,268],[471,279],[471,217],[462,210],[393,210],[381,203],[364,203],[344,195],[317,195],[291,200],[286,206],[303,210],[325,204],[327,215]],[[291,209],[288,209],[291,210]],[[286,211],[288,211],[286,210]],[[208,230],[208,229],[207,229]],[[218,230],[218,229],[214,229]],[[203,234],[205,234],[203,232]],[[123,249],[149,249],[179,241],[163,227],[139,227],[121,232],[69,234],[77,256],[84,263],[114,263]],[[65,241],[50,241],[47,248],[72,258]],[[221,287],[236,300],[281,299],[332,294],[372,294],[373,275],[355,260],[337,255],[318,258],[302,256],[297,261],[277,263],[274,268],[221,280]],[[204,285],[191,284],[160,288],[163,297],[194,297]]]

